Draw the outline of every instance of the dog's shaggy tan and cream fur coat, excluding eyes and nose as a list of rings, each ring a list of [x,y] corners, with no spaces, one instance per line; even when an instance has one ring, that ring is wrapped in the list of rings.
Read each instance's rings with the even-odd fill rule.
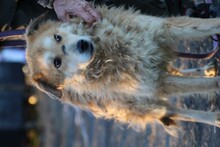
[[[171,95],[219,90],[219,77],[174,76],[167,65],[175,58],[171,48],[178,40],[220,33],[220,19],[158,18],[131,9],[97,9],[103,18],[93,26],[79,18],[62,23],[43,17],[29,25],[27,63],[39,89],[97,117],[137,128],[157,121],[175,135],[176,120],[220,127],[219,112],[180,109],[166,100]],[[55,34],[62,40],[56,41]],[[77,42],[82,39],[94,50],[80,53]],[[62,60],[59,68],[54,67],[56,57]]]

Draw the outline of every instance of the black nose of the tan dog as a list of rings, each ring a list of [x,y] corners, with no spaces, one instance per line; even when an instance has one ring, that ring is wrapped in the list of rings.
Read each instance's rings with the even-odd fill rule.
[[[77,49],[80,53],[93,50],[92,42],[87,40],[79,40],[77,42]]]

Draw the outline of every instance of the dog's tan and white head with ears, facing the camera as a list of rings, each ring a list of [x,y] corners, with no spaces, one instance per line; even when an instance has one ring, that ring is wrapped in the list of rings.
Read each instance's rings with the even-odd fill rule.
[[[62,97],[64,79],[87,67],[95,48],[80,22],[61,23],[42,15],[26,30],[30,78],[42,91]]]

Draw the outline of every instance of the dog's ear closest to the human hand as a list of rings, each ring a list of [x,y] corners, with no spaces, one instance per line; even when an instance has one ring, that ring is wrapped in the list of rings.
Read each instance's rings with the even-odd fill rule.
[[[49,19],[49,12],[47,11],[41,14],[36,19],[31,20],[30,24],[26,29],[27,36],[32,35],[39,28],[39,26],[48,19]]]

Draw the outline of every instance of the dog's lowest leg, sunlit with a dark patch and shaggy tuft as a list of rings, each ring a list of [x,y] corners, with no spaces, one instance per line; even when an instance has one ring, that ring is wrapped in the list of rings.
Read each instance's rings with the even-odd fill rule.
[[[136,111],[142,112],[141,114],[145,112],[141,109],[147,110],[145,115],[162,123],[164,129],[173,136],[177,136],[178,131],[181,130],[176,121],[200,122],[220,127],[220,112],[176,108],[163,100],[154,101],[154,103],[148,101],[147,104],[141,102],[137,108]]]

